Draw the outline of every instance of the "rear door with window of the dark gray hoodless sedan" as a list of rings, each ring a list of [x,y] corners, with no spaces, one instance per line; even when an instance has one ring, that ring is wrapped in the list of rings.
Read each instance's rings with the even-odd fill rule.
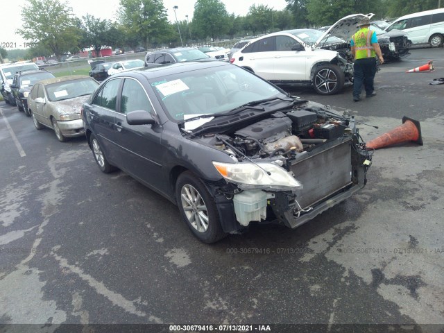
[[[94,96],[91,105],[86,106],[89,112],[89,127],[99,140],[110,163],[119,161],[118,133],[114,129],[114,117],[117,113],[117,96],[122,80],[121,78],[108,80]]]

